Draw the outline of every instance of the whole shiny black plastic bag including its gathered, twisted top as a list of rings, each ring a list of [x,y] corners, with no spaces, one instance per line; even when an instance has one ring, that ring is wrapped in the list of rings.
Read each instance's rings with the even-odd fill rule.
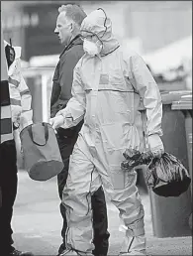
[[[191,179],[186,168],[173,155],[164,153],[160,159],[153,158],[150,152],[141,153],[136,150],[126,150],[125,161],[121,168],[130,172],[139,165],[147,165],[146,185],[161,196],[179,196],[186,192]]]

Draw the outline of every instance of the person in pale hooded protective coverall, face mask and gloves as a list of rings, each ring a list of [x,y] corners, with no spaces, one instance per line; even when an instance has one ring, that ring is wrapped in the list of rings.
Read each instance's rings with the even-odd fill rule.
[[[145,255],[145,213],[137,173],[122,171],[121,163],[126,149],[143,147],[141,99],[149,150],[156,156],[164,152],[160,93],[143,59],[120,47],[103,9],[84,19],[81,36],[85,55],[74,68],[72,98],[50,119],[53,128],[68,128],[84,118],[63,190],[68,223],[68,252],[63,255],[91,254],[90,194],[101,183],[127,228],[121,254]]]

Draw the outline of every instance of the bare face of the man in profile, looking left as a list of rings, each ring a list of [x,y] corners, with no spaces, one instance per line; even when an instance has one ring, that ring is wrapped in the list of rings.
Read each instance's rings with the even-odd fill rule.
[[[61,45],[66,46],[69,43],[70,38],[72,36],[71,28],[72,24],[70,24],[70,22],[67,21],[65,13],[60,13],[56,20],[56,27],[54,33],[58,36]]]

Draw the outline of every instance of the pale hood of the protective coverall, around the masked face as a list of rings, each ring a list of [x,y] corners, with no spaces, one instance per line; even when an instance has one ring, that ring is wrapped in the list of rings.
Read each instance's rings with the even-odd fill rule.
[[[80,32],[84,37],[90,34],[96,34],[98,36],[103,43],[103,48],[100,53],[101,56],[106,56],[119,47],[119,42],[112,34],[111,20],[106,17],[102,10],[91,12],[83,20]]]

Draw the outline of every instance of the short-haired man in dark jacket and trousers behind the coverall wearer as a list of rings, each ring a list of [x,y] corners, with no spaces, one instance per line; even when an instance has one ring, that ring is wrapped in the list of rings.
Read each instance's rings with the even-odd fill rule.
[[[62,5],[58,9],[59,15],[56,21],[54,33],[58,35],[61,45],[64,47],[56,65],[50,99],[50,117],[65,107],[67,101],[71,98],[71,85],[73,79],[73,69],[80,58],[84,55],[83,43],[79,37],[80,25],[86,17],[84,11],[77,5]],[[69,156],[72,153],[74,144],[78,137],[78,132],[82,127],[83,121],[77,126],[69,129],[58,128],[56,137],[64,163],[64,169],[57,177],[58,192],[60,199],[66,183],[69,166]],[[92,195],[91,199],[93,208],[93,229],[96,256],[107,255],[109,247],[109,232],[107,221],[107,208],[105,194],[102,187]],[[63,242],[59,247],[58,255],[63,255],[65,251],[65,231],[67,229],[65,207],[60,203],[60,212],[63,218],[61,236]]]

